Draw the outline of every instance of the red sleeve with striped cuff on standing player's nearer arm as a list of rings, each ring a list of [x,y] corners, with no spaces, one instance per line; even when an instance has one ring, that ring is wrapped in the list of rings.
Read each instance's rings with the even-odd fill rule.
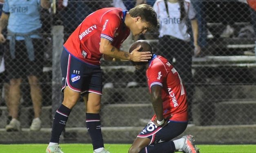
[[[102,16],[100,22],[103,25],[100,37],[113,42],[114,34],[121,24],[119,15],[110,11]]]

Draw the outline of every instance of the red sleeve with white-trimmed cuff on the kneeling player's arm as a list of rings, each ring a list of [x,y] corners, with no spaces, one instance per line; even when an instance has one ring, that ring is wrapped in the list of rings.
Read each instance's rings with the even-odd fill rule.
[[[148,69],[147,74],[150,89],[153,85],[160,85],[163,87],[163,82],[166,78],[166,70],[163,68],[163,66],[153,65]]]

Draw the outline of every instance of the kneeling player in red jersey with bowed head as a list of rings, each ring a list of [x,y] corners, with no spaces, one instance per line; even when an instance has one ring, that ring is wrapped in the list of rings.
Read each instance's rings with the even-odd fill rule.
[[[142,52],[152,52],[150,44],[145,41],[135,42],[130,52],[138,46],[141,46]],[[129,153],[199,153],[191,135],[171,141],[187,128],[187,93],[180,75],[168,60],[152,54],[148,62],[133,62],[138,70],[147,68],[147,82],[155,114],[138,134]]]

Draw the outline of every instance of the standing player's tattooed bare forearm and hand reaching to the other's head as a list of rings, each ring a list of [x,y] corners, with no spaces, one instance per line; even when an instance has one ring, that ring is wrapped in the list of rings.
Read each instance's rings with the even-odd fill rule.
[[[102,54],[108,55],[117,59],[125,59],[131,61],[148,61],[151,59],[150,52],[138,52],[140,48],[136,48],[131,54],[129,52],[118,50],[116,47],[112,46],[108,39],[100,39],[100,52]]]

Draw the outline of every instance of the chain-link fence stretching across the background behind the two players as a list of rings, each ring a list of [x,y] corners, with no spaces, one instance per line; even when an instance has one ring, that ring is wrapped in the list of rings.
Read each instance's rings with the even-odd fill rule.
[[[130,35],[121,50],[128,51],[134,40],[145,39],[156,54],[173,63],[187,88],[191,126],[185,133],[194,134],[197,142],[256,143],[251,137],[256,134],[256,11],[246,0],[190,1],[184,0],[181,5],[174,0],[165,5],[164,1],[147,0],[158,13],[159,31]],[[136,0],[57,0],[52,5],[56,8],[39,11],[42,39],[33,37],[34,56],[27,51],[27,40],[14,35],[14,58],[10,44],[13,37],[2,31],[8,40],[0,48],[1,143],[48,142],[52,115],[63,96],[59,59],[63,42],[93,11],[103,7],[129,10],[135,5]],[[28,7],[10,7],[9,11],[24,13]],[[184,26],[178,26],[183,21]],[[31,63],[33,57],[37,61]],[[132,142],[154,114],[145,72],[136,71],[128,61],[101,60],[101,67],[103,138],[105,142]],[[42,129],[29,131],[38,114]],[[21,132],[6,132],[10,116],[18,118]],[[69,116],[62,141],[90,142],[82,98]]]

